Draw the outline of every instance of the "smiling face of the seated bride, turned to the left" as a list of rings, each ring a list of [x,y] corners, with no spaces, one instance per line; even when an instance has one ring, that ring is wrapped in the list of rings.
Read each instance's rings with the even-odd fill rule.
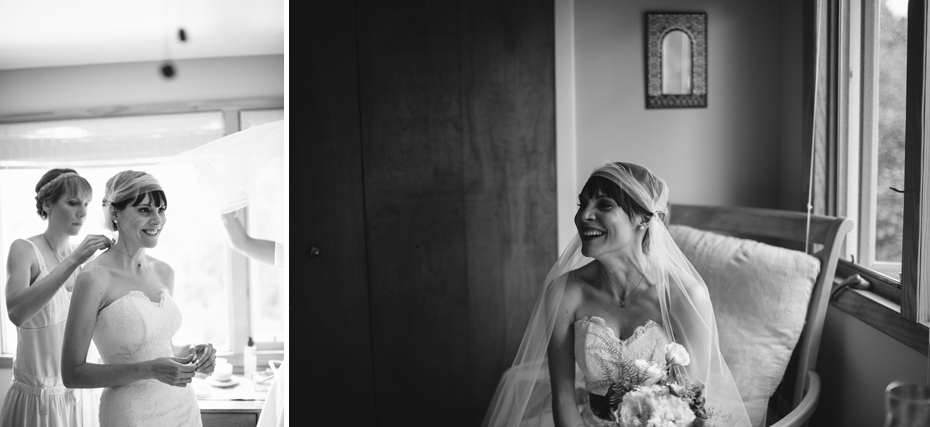
[[[615,200],[603,193],[578,196],[575,228],[581,238],[581,253],[597,258],[637,244],[636,224]]]

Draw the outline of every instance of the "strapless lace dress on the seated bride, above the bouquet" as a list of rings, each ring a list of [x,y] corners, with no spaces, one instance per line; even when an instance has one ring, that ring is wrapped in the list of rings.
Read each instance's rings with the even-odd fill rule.
[[[628,384],[639,370],[637,359],[665,364],[665,346],[669,343],[658,323],[647,320],[625,340],[617,338],[597,316],[586,316],[575,322],[575,361],[584,373],[588,399],[581,399],[581,417],[585,425],[618,427],[620,424],[595,415],[591,401],[606,399],[608,387]]]

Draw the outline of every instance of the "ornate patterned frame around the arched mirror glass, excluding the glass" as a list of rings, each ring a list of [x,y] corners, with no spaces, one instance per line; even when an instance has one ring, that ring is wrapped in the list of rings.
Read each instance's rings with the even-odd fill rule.
[[[691,38],[691,94],[662,93],[662,43],[671,31]],[[646,108],[707,107],[707,14],[646,13]]]

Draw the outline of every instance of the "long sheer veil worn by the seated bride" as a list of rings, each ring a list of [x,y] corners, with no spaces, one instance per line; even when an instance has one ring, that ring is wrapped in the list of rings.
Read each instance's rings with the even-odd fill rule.
[[[668,213],[665,181],[645,167],[622,162],[598,167],[591,173],[591,177],[595,176],[616,184],[653,214],[648,223],[650,242],[645,254],[646,265],[641,267],[647,281],[656,287],[666,336],[669,341],[684,346],[690,354],[691,363],[677,373],[706,385],[705,405],[719,414],[711,420],[711,425],[749,426],[746,407],[720,354],[707,285],[665,226]],[[576,234],[546,276],[513,366],[501,378],[482,425],[552,425],[552,388],[546,356],[549,339],[568,273],[591,261],[592,258],[581,254],[581,241]],[[575,384],[576,389],[584,388],[584,377],[577,363]]]

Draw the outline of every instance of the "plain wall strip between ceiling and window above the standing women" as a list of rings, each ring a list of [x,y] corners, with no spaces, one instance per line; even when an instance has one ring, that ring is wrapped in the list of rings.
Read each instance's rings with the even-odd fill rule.
[[[165,81],[158,63],[0,70],[0,116],[98,106],[284,96],[284,56],[190,59]],[[3,321],[7,321],[4,319]],[[0,399],[11,369],[0,369]]]

